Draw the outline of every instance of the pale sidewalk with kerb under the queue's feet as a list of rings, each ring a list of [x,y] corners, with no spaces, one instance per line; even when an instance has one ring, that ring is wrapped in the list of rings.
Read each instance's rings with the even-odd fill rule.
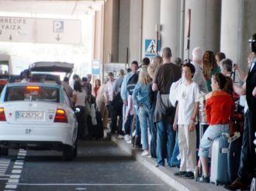
[[[119,148],[123,149],[123,151],[133,155],[133,157],[141,162],[147,169],[153,172],[156,176],[162,179],[165,183],[177,190],[191,190],[191,191],[207,191],[207,190],[216,190],[216,191],[227,191],[223,186],[215,186],[212,183],[199,183],[195,182],[194,179],[182,179],[174,176],[174,172],[178,171],[178,168],[170,168],[168,166],[159,166],[155,167],[154,165],[157,163],[156,159],[148,158],[147,156],[141,156],[140,148],[133,148],[130,144],[127,144],[123,139],[118,139],[116,135],[112,135],[112,142],[115,142]]]

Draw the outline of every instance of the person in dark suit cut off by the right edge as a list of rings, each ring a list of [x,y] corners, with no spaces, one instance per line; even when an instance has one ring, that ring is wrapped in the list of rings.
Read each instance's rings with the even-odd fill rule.
[[[256,131],[256,97],[253,90],[256,87],[256,33],[249,40],[251,52],[254,53],[251,67],[246,80],[246,101],[248,109],[244,117],[243,146],[240,156],[240,167],[237,179],[230,185],[225,185],[225,189],[237,190],[248,189],[251,179],[255,176],[256,154],[254,145],[254,133]]]

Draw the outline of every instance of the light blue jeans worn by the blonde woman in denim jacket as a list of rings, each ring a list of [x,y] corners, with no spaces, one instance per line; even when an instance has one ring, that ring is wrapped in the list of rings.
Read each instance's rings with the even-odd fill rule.
[[[141,141],[142,149],[148,149],[148,135],[147,135],[147,124],[152,128],[152,123],[150,120],[150,111],[146,106],[139,107],[139,119],[140,119],[140,131],[141,131]],[[147,123],[148,122],[148,123]]]

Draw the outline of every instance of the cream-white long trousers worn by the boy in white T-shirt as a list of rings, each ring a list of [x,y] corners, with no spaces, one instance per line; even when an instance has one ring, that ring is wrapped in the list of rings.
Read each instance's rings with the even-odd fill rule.
[[[194,172],[196,165],[196,131],[189,131],[189,125],[178,125],[178,147],[181,155],[180,171]]]

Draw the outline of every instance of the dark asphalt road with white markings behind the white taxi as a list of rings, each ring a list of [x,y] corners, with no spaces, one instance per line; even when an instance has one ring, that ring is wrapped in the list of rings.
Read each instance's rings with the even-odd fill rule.
[[[10,150],[0,158],[0,190],[174,190],[110,141],[78,142],[78,157]]]

